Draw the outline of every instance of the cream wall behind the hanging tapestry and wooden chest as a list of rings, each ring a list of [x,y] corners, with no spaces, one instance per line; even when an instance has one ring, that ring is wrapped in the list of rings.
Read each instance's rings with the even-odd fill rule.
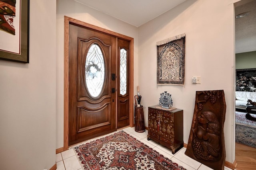
[[[186,33],[185,85],[156,84],[156,42]],[[188,143],[200,90],[224,90],[226,161],[234,161],[234,6],[232,0],[187,0],[139,27],[138,85],[145,119],[160,93],[172,94],[173,107],[184,110],[184,143]],[[149,62],[150,61],[150,62]],[[201,76],[202,84],[192,84]],[[148,122],[145,121],[146,126]]]

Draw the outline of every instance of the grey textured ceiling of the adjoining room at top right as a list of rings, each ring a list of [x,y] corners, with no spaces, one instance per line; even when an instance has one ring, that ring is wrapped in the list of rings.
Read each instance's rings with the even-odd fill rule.
[[[250,11],[235,19],[236,53],[256,51],[256,0],[241,0],[235,6],[235,16]]]

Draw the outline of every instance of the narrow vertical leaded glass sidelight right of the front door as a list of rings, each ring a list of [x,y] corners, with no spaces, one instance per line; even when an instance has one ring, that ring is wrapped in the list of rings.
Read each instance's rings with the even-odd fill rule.
[[[120,49],[120,94],[126,94],[127,85],[127,50]]]

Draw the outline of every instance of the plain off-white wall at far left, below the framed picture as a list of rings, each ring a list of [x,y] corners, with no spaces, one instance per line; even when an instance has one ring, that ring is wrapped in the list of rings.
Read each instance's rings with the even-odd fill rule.
[[[0,60],[0,169],[55,164],[56,1],[30,1],[30,63]]]

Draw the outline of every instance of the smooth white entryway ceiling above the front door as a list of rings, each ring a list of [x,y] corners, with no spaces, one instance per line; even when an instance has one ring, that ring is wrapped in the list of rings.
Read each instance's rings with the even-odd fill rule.
[[[186,0],[74,0],[139,27]],[[164,5],[163,5],[164,4]]]

